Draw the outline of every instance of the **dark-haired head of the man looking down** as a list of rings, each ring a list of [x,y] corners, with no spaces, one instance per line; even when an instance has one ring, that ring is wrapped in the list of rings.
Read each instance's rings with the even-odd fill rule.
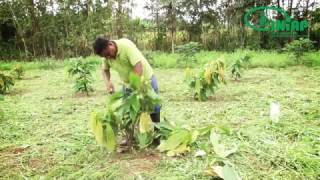
[[[93,49],[95,54],[105,58],[115,58],[117,54],[116,44],[105,38],[97,38]]]

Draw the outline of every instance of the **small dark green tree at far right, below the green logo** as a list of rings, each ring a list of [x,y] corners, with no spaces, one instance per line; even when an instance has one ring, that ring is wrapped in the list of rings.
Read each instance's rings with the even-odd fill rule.
[[[289,44],[286,44],[285,50],[288,51],[293,57],[296,63],[303,64],[302,56],[313,49],[313,41],[310,39],[300,38],[294,40]]]

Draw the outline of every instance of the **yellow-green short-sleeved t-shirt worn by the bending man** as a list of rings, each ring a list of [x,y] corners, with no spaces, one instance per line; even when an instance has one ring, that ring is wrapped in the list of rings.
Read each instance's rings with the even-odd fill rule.
[[[143,67],[142,76],[150,79],[153,75],[153,70],[137,46],[125,38],[114,40],[114,42],[117,45],[117,55],[115,59],[103,59],[102,68],[114,69],[118,72],[120,78],[125,83],[128,83],[130,73],[134,72],[134,66],[141,62]]]

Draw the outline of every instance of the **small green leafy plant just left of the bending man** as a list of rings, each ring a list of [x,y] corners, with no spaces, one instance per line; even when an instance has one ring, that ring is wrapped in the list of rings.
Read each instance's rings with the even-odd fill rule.
[[[90,62],[85,62],[82,58],[75,59],[71,63],[68,69],[69,75],[76,77],[76,82],[74,88],[77,92],[85,92],[89,95],[92,88],[92,71],[94,70],[94,65]]]

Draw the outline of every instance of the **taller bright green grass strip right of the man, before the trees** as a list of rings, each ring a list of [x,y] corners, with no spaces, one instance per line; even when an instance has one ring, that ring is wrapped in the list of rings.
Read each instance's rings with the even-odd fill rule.
[[[303,59],[306,65],[319,66],[320,52],[307,53]],[[195,54],[197,64],[193,67],[204,65],[209,61],[216,60],[219,57],[224,57],[226,64],[230,64],[232,61],[240,58],[244,54],[249,54],[251,58],[250,67],[269,67],[269,68],[284,68],[288,66],[294,66],[296,63],[288,53],[278,53],[276,51],[252,51],[252,50],[237,50],[233,53],[221,52],[221,51],[201,51]],[[179,54],[167,54],[161,52],[149,52],[148,59],[151,59],[151,63],[157,68],[177,68],[177,59]]]

